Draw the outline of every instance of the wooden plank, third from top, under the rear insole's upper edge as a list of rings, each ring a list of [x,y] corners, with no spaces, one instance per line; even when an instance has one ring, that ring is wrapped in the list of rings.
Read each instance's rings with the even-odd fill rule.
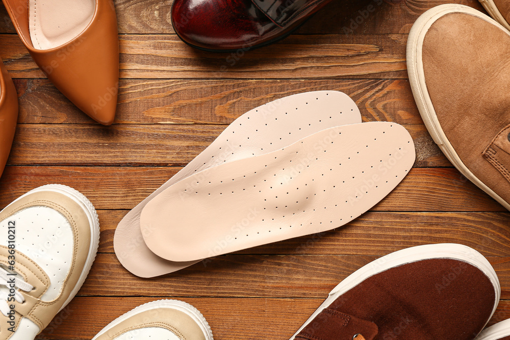
[[[17,79],[19,123],[93,123],[49,81]],[[364,121],[422,124],[408,80],[121,80],[116,124],[230,124],[269,101],[336,90]]]

